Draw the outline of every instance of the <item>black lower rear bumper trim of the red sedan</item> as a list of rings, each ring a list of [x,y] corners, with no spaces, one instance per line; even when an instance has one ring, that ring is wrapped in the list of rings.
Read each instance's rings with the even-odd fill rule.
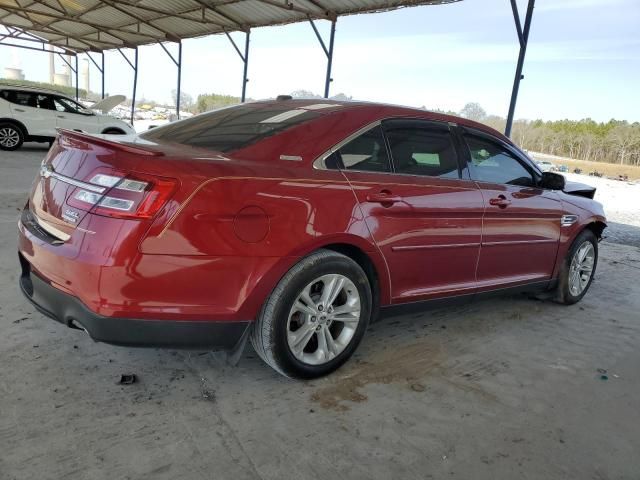
[[[240,344],[251,325],[250,321],[105,317],[32,272],[22,255],[20,263],[20,289],[27,299],[43,314],[68,327],[85,330],[97,342],[132,347],[232,350]]]

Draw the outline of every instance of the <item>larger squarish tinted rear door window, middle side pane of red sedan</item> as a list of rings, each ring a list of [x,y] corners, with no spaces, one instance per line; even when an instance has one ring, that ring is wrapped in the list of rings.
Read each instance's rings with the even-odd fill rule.
[[[387,130],[396,173],[459,178],[458,160],[445,126],[408,126]]]

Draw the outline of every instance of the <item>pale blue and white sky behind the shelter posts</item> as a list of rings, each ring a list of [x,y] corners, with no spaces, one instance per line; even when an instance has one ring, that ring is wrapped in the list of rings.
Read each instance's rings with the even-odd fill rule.
[[[526,1],[518,5],[524,19]],[[328,43],[330,23],[317,25]],[[244,44],[244,34],[233,36]],[[331,94],[453,111],[478,102],[506,116],[517,58],[509,0],[340,17]],[[139,62],[137,97],[170,102],[177,71],[161,47],[141,47]],[[16,66],[48,81],[47,55],[1,47],[0,72]],[[252,30],[249,98],[321,94],[325,69],[308,23]],[[118,52],[106,54],[106,70],[107,91],[131,96],[132,71]],[[516,118],[640,121],[640,0],[537,0],[523,73]],[[99,72],[91,67],[90,76],[99,91]],[[240,96],[241,83],[242,62],[225,36],[183,42],[184,92]]]

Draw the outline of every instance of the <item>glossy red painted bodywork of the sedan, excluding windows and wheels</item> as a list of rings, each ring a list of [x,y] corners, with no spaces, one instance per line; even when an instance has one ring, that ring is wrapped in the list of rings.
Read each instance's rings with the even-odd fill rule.
[[[291,109],[309,103],[323,102],[290,101]],[[243,321],[255,319],[287,270],[319,248],[359,250],[388,305],[551,280],[579,231],[604,222],[599,204],[562,192],[476,183],[468,175],[318,169],[314,161],[330,148],[387,118],[455,122],[510,144],[455,117],[331,104],[313,120],[227,152],[63,133],[27,207],[61,241],[20,224],[19,250],[34,272],[100,315]],[[135,208],[127,218],[108,216],[83,208],[74,196],[84,187],[68,181],[87,183],[96,174],[148,182],[135,208],[150,204],[147,196],[162,182],[171,189],[151,218]],[[104,195],[132,195],[113,188]],[[564,214],[577,215],[577,223],[560,227]]]

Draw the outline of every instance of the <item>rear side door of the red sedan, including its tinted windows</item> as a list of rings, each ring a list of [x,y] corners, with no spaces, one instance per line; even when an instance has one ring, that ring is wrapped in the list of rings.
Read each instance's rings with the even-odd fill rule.
[[[385,258],[393,303],[473,293],[482,195],[461,177],[446,123],[382,122],[339,148],[334,161]]]

